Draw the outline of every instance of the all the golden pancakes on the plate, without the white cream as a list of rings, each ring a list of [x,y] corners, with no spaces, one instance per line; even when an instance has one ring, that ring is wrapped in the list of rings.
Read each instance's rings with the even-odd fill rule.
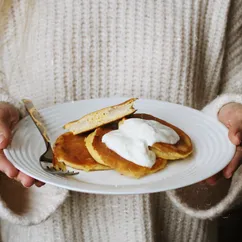
[[[98,110],[66,124],[64,128],[69,132],[56,140],[55,158],[79,170],[112,169],[125,176],[140,178],[165,168],[168,160],[183,159],[192,153],[191,139],[182,130],[151,115],[134,114],[136,112],[133,108],[135,100],[130,99],[119,105]],[[174,145],[155,143],[149,147],[156,154],[153,167],[139,166],[119,156],[102,142],[102,137],[106,133],[117,129],[118,125],[128,118],[155,120],[176,131],[180,140]]]

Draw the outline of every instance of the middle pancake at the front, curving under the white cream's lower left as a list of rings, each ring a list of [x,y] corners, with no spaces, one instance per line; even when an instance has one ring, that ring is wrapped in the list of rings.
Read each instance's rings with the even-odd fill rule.
[[[85,139],[89,153],[98,163],[109,166],[125,176],[134,178],[140,178],[155,173],[166,166],[166,160],[161,158],[156,159],[156,163],[152,168],[139,166],[122,158],[102,142],[103,135],[112,130],[110,126],[97,128]]]

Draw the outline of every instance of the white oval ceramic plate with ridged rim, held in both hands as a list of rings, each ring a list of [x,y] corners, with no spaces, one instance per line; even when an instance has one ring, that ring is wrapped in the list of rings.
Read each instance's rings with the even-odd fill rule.
[[[127,99],[93,99],[56,105],[40,110],[52,143],[65,130],[63,125],[92,111],[115,105]],[[221,171],[232,159],[235,147],[227,129],[217,120],[197,110],[177,104],[138,100],[137,113],[148,113],[164,119],[192,139],[194,153],[188,159],[169,162],[155,174],[139,180],[121,176],[115,171],[83,172],[72,177],[59,177],[43,171],[39,157],[45,151],[41,135],[29,117],[18,124],[7,158],[22,172],[55,186],[97,194],[140,194],[166,191],[202,181]]]

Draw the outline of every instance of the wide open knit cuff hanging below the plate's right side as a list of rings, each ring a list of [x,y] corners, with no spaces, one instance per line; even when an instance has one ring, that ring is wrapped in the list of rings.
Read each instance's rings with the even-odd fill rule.
[[[201,185],[196,184],[191,186],[190,188],[183,188],[178,190],[173,190],[167,192],[168,197],[171,199],[173,204],[184,213],[199,219],[213,219],[218,216],[223,215],[226,211],[242,204],[242,166],[236,171],[232,178],[231,185],[226,193],[226,195],[222,195],[221,199],[220,195],[216,198],[216,196],[212,195],[213,199],[216,201],[214,204],[213,199],[207,201],[206,209],[200,209],[199,207],[204,206],[204,199],[202,196],[207,196],[207,194],[216,193],[215,189],[223,190],[224,182],[218,182],[215,186],[209,185]],[[228,181],[225,181],[228,182]],[[192,190],[191,190],[192,189]],[[189,192],[186,192],[189,190]],[[194,199],[194,194],[196,196],[197,204],[194,204],[192,200]],[[185,199],[185,197],[187,197]],[[193,205],[191,205],[193,203]],[[211,204],[211,205],[210,205]],[[212,205],[214,204],[214,205]]]

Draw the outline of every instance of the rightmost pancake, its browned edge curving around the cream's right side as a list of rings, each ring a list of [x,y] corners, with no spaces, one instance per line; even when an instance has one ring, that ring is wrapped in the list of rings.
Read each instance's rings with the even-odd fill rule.
[[[180,136],[180,140],[173,145],[162,142],[152,145],[151,150],[154,151],[158,157],[166,160],[177,160],[185,158],[192,153],[193,147],[190,137],[176,126],[149,114],[133,114],[130,118],[155,120],[163,125],[172,128]]]

